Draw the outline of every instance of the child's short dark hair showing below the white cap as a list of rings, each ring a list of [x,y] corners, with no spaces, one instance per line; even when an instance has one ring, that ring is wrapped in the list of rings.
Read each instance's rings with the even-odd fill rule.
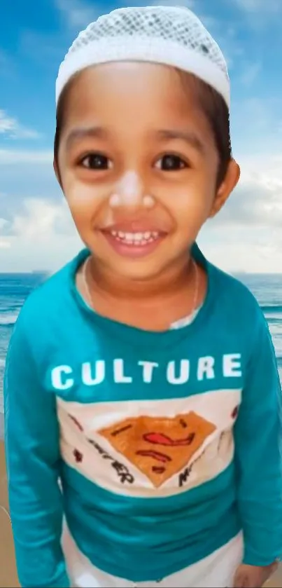
[[[207,121],[213,132],[213,138],[216,143],[216,149],[218,150],[219,166],[217,176],[217,187],[223,182],[225,178],[228,164],[232,158],[232,149],[230,142],[230,116],[229,109],[223,97],[209,84],[200,80],[193,74],[188,74],[185,71],[177,69],[178,75],[181,78],[181,83],[184,91],[188,91],[192,86],[192,91],[195,93],[195,97],[199,102],[200,109],[204,112]],[[81,73],[81,72],[80,72]],[[64,115],[67,110],[67,101],[69,93],[79,73],[75,74],[66,86],[64,86],[62,93],[57,103],[57,114],[56,114],[56,131],[54,141],[54,160],[58,167],[58,152],[59,152],[59,141],[62,135],[62,128],[64,126]]]

